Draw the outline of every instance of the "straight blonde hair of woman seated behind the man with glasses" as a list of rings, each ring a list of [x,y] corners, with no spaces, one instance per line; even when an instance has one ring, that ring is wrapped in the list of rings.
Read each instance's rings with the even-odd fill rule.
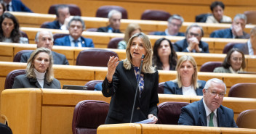
[[[183,86],[183,83],[181,83],[180,72],[178,70],[180,70],[181,64],[183,64],[183,62],[186,62],[186,61],[191,62],[191,64],[193,65],[194,72],[191,79],[191,85],[193,85],[193,88],[196,90],[196,88],[199,88],[199,85],[197,83],[197,80],[198,80],[197,65],[196,65],[195,59],[193,59],[193,56],[184,55],[184,56],[181,56],[180,59],[177,61],[177,66],[176,66],[177,78],[175,82],[177,82],[177,85],[179,85],[179,88]]]

